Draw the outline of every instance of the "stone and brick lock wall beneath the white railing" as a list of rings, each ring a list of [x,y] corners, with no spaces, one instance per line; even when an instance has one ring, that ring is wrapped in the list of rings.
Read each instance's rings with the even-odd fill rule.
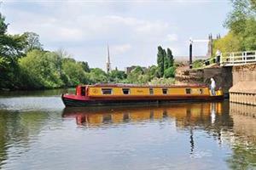
[[[256,105],[252,100],[256,96],[256,92],[252,91],[253,87],[256,88],[256,64],[233,67],[216,65],[215,67],[199,70],[189,70],[187,68],[177,71],[175,78],[177,82],[206,83],[210,85],[212,77],[217,84],[217,88],[223,89],[225,96],[230,94],[230,101]],[[231,87],[233,88],[230,91]]]

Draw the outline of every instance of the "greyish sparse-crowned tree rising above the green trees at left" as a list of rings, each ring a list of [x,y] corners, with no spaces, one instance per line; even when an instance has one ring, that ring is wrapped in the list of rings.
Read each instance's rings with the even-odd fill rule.
[[[39,41],[39,35],[35,32],[25,32],[23,34],[26,37],[26,48],[25,52],[29,52],[32,49],[40,49],[43,50],[43,45]]]

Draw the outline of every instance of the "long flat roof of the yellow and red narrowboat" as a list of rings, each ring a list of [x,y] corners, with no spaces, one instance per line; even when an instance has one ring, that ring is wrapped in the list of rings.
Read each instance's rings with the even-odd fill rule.
[[[188,84],[188,85],[138,85],[124,83],[96,83],[93,85],[80,85],[100,88],[207,88],[206,84]]]

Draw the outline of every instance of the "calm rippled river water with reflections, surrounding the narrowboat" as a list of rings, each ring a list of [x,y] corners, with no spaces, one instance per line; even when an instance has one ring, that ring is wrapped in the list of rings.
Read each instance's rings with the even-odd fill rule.
[[[0,169],[256,169],[256,107],[65,109],[61,93],[0,94]]]

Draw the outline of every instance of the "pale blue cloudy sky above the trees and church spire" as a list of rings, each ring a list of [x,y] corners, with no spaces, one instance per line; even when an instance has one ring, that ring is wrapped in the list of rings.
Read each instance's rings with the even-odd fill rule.
[[[223,27],[229,0],[169,1],[4,1],[1,12],[9,33],[38,33],[44,49],[65,49],[90,67],[105,69],[107,44],[112,67],[155,65],[157,47],[175,56],[189,55],[189,37],[207,39],[227,33]],[[195,55],[207,43],[194,44]]]

